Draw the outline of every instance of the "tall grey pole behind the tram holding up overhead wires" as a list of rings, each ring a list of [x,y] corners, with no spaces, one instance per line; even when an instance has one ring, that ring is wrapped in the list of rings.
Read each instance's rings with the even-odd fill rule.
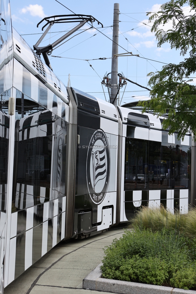
[[[118,86],[118,57],[114,57],[118,54],[119,44],[119,3],[114,3],[114,19],[113,19],[113,38],[112,38],[112,70],[111,70],[111,89],[110,89],[110,102],[113,103]],[[114,101],[114,105],[117,105],[117,97]]]

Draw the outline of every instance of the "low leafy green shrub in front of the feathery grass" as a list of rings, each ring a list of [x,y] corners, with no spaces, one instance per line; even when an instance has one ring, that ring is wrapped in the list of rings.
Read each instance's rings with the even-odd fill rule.
[[[175,230],[152,232],[135,227],[105,249],[102,274],[108,279],[190,289],[195,285],[194,276],[191,280],[186,273],[183,279],[179,277],[184,269],[192,271],[195,246],[195,240],[179,237]]]

